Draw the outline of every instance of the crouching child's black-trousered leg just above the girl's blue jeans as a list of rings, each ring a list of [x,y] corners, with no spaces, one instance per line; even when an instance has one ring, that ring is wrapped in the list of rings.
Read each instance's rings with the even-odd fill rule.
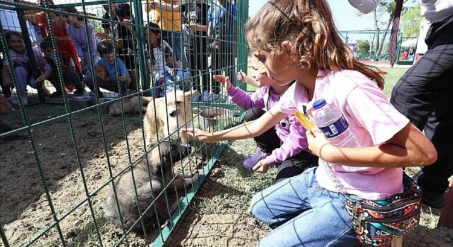
[[[284,160],[278,166],[276,183],[297,176],[308,168],[317,167],[318,159],[316,155],[302,150],[297,155]]]

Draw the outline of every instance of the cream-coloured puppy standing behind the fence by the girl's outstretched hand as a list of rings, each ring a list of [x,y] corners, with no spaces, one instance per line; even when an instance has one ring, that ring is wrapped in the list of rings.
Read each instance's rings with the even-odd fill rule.
[[[168,92],[166,97],[154,99],[146,107],[143,126],[146,133],[146,145],[151,145],[153,136],[163,128],[165,137],[180,128],[192,128],[192,92]],[[187,135],[180,135],[181,143],[187,145]]]

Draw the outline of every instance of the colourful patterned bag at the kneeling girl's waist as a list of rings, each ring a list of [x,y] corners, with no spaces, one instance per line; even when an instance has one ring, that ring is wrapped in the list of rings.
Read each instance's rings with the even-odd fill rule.
[[[391,246],[392,240],[418,226],[422,191],[404,174],[404,192],[383,200],[356,200],[343,194],[344,205],[353,218],[360,243],[367,246]]]

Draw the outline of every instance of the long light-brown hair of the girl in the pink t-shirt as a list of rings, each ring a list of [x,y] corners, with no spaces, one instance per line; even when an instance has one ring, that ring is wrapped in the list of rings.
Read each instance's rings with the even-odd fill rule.
[[[282,54],[283,41],[293,43],[300,59],[298,66],[310,70],[360,71],[384,88],[384,79],[354,58],[334,25],[324,0],[270,0],[247,22],[251,49]]]

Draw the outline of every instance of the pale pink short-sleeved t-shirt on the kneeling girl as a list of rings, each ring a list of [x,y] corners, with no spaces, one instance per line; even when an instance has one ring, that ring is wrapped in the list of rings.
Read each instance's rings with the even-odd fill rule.
[[[360,147],[385,143],[409,122],[389,103],[376,83],[358,71],[319,71],[311,101],[305,86],[294,83],[275,107],[279,112],[294,114],[295,109],[310,111],[313,102],[320,99],[341,109]],[[320,161],[316,172],[319,185],[329,191],[341,192],[329,176],[326,165],[322,164],[325,163]],[[401,168],[329,165],[345,193],[376,200],[403,190]]]

